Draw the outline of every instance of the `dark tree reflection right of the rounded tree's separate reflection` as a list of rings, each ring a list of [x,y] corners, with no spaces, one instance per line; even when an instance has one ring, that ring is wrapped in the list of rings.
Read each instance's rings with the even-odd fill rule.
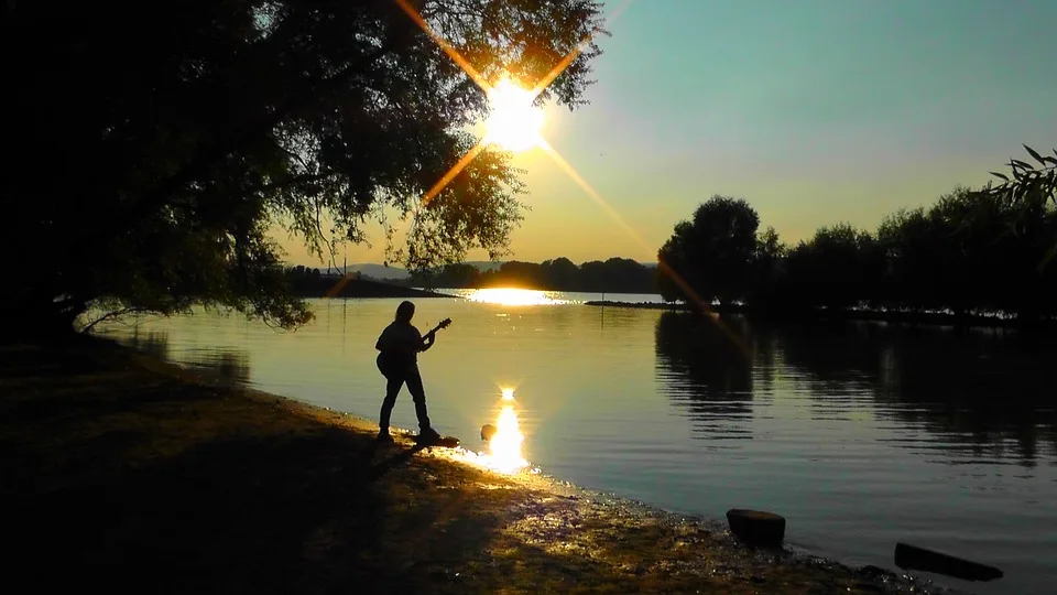
[[[821,382],[818,399],[872,385],[876,415],[919,425],[951,446],[1033,465],[1039,442],[1057,448],[1054,350],[1013,331],[956,332],[878,323],[783,327],[781,350]]]

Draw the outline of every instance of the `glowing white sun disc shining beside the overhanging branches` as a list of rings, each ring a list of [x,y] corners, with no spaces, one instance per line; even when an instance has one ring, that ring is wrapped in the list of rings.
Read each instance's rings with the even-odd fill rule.
[[[488,93],[491,115],[484,122],[484,142],[508,151],[526,151],[543,140],[543,109],[532,105],[535,95],[509,78],[500,80]]]

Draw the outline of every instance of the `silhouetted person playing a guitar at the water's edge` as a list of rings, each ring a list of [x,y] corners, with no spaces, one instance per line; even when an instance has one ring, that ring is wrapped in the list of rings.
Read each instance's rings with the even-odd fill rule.
[[[396,316],[392,324],[382,331],[378,337],[374,348],[381,351],[378,354],[378,369],[385,377],[385,400],[382,401],[382,413],[379,419],[378,440],[380,442],[392,442],[389,434],[389,418],[393,412],[393,405],[396,404],[396,394],[400,388],[407,383],[407,390],[415,402],[415,414],[418,416],[418,443],[434,444],[440,440],[438,434],[429,425],[429,416],[426,414],[426,392],[422,388],[422,376],[418,375],[418,353],[433,347],[437,336],[435,332],[429,332],[425,337],[411,324],[411,318],[415,315],[415,304],[404,301],[396,307]]]

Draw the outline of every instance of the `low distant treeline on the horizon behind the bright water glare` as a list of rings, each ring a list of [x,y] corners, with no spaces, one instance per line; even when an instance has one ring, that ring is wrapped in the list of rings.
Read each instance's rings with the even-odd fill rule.
[[[592,260],[580,266],[567,258],[543,262],[504,262],[481,271],[472,264],[449,264],[412,274],[405,283],[433,288],[517,286],[553,291],[654,293],[656,269],[626,258]]]

